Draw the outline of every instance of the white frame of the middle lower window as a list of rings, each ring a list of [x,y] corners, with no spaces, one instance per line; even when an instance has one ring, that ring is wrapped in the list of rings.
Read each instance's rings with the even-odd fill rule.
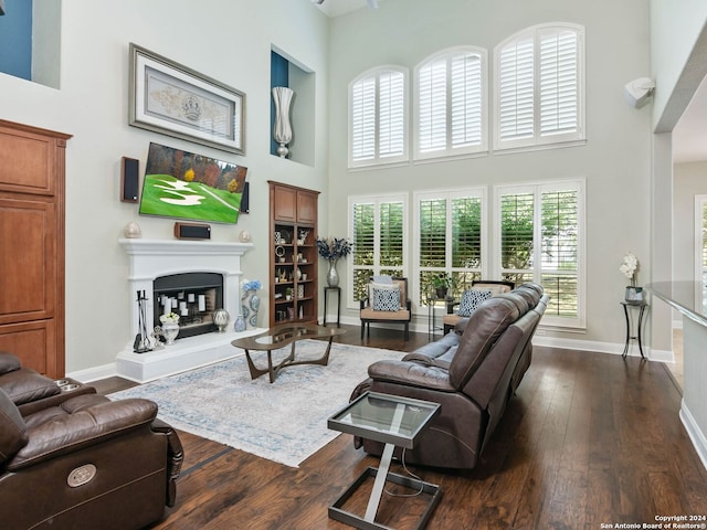
[[[422,307],[424,305],[424,300],[420,299],[420,292],[421,292],[421,285],[420,285],[420,276],[421,273],[423,271],[437,271],[440,273],[444,273],[444,274],[452,274],[454,272],[465,272],[465,271],[473,271],[473,272],[478,272],[482,276],[482,278],[485,277],[486,271],[488,271],[488,256],[489,256],[489,252],[488,252],[488,237],[487,237],[487,233],[488,233],[488,226],[486,225],[487,223],[487,209],[488,209],[488,201],[487,201],[487,187],[485,186],[481,186],[481,187],[469,187],[469,188],[454,188],[454,189],[440,189],[440,190],[424,190],[424,191],[415,191],[413,193],[413,205],[414,205],[414,211],[413,211],[413,226],[414,226],[414,246],[413,246],[413,252],[414,252],[414,256],[412,258],[412,278],[410,282],[410,289],[411,289],[411,300],[413,301],[413,305],[415,305],[416,307]],[[432,200],[432,199],[444,199],[446,200],[447,204],[451,204],[452,201],[454,199],[460,199],[460,198],[469,198],[469,197],[478,197],[481,199],[481,222],[482,222],[482,226],[481,226],[481,264],[479,267],[474,267],[474,268],[465,268],[465,267],[454,267],[452,265],[453,262],[453,256],[452,256],[452,245],[445,245],[445,255],[444,255],[444,267],[423,267],[420,264],[420,236],[421,236],[421,230],[420,230],[420,202],[423,200]],[[453,224],[452,224],[452,210],[447,209],[446,211],[446,224],[445,224],[445,239],[446,241],[451,241],[452,239],[452,230],[453,230]]]

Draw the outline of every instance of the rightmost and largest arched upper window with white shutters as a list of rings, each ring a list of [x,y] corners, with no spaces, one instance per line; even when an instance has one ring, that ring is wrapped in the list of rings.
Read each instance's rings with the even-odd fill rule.
[[[537,25],[494,51],[494,149],[583,140],[584,32]]]

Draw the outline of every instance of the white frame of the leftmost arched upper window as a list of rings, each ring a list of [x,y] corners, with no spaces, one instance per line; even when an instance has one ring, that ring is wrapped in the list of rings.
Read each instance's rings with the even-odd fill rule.
[[[381,157],[380,156],[380,77],[381,74],[397,73],[403,76],[403,89],[402,89],[402,147],[403,152],[398,156]],[[354,159],[354,87],[366,80],[374,78],[376,82],[376,103],[374,103],[374,156],[371,159],[355,160]],[[348,86],[348,168],[360,169],[378,166],[388,166],[408,162],[410,160],[410,73],[404,66],[399,65],[381,65],[362,72],[356,76]]]

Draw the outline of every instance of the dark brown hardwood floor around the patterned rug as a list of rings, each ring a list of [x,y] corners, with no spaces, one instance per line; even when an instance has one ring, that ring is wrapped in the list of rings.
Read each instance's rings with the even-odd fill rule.
[[[360,344],[359,328],[345,327],[340,341]],[[404,342],[401,331],[371,329],[363,344],[410,351],[426,342],[426,333]],[[131,385],[117,378],[94,384],[99,392]],[[679,390],[661,363],[536,347],[476,469],[411,468],[442,488],[428,528],[651,528],[643,524],[656,523],[656,516],[707,516],[707,470],[679,406]],[[155,529],[350,528],[329,519],[327,508],[366,467],[378,466],[345,434],[298,469],[180,436],[186,458],[177,506]],[[398,463],[392,470],[404,474]],[[365,511],[366,488],[369,483],[347,509]],[[425,502],[383,495],[377,521],[414,528]]]

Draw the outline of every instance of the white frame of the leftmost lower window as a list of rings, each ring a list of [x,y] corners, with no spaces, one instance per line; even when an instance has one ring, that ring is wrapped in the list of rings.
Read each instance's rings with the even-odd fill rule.
[[[346,306],[349,309],[358,309],[359,303],[354,298],[356,286],[354,285],[354,272],[355,269],[370,269],[374,275],[380,274],[381,268],[388,268],[388,266],[383,267],[380,264],[380,205],[387,204],[391,202],[401,202],[402,203],[402,275],[403,277],[409,277],[409,265],[408,265],[408,254],[409,254],[409,199],[407,192],[401,193],[377,193],[369,195],[349,195],[348,197],[348,213],[347,213],[347,224],[348,224],[348,239],[352,242],[356,241],[356,231],[354,226],[354,206],[356,204],[374,204],[376,211],[373,213],[373,256],[374,264],[369,268],[367,266],[355,265],[354,256],[350,259],[346,259],[346,285],[347,285],[347,298]],[[356,248],[354,248],[356,251]]]

